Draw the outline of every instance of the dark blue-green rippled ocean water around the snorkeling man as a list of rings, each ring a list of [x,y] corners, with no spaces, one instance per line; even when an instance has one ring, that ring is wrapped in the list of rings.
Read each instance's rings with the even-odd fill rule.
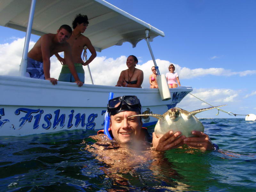
[[[256,191],[256,122],[200,121],[219,151],[173,149],[126,172],[84,150],[96,131],[0,137],[0,191]]]

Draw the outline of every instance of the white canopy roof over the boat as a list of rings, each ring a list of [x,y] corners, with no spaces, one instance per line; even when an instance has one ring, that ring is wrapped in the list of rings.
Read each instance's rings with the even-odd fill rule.
[[[0,25],[26,31],[31,0],[0,0]],[[132,47],[145,39],[149,29],[150,40],[164,36],[164,32],[133,17],[104,0],[44,0],[37,1],[32,34],[42,36],[56,33],[58,28],[71,26],[76,14],[88,16],[89,27],[85,30],[96,51],[130,42]]]

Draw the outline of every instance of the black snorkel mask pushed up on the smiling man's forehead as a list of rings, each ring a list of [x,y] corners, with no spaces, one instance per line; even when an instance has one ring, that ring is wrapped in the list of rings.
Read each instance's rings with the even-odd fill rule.
[[[108,112],[116,115],[122,111],[137,111],[141,114],[140,100],[135,95],[120,96],[108,101]]]

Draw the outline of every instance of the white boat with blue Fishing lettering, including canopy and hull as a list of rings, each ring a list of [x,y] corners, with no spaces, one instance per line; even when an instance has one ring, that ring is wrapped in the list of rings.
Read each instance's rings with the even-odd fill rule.
[[[88,16],[90,27],[86,36],[96,51],[124,42],[135,47],[145,39],[155,65],[148,40],[164,37],[164,32],[103,0],[0,0],[0,5],[0,25],[27,31],[20,76],[0,76],[0,136],[103,129],[109,92],[114,97],[136,95],[143,112],[162,114],[192,91],[192,87],[186,86],[168,89],[171,99],[167,100],[159,93],[163,90],[158,89],[95,84],[78,87],[67,82],[52,85],[46,80],[25,77],[30,34],[56,33],[62,24],[71,25],[79,13]],[[143,126],[156,124],[155,118],[142,120]]]

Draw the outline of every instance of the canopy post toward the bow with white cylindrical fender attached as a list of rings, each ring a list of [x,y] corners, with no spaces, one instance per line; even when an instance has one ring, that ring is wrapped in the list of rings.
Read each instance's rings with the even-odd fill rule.
[[[152,60],[154,62],[155,68],[156,68],[156,73],[157,73],[156,80],[157,80],[157,84],[158,84],[158,90],[160,92],[160,95],[161,95],[161,98],[163,101],[169,100],[169,99],[171,99],[171,94],[170,94],[170,89],[169,89],[166,77],[165,77],[165,75],[160,75],[158,66],[156,65],[156,60],[155,60],[154,54],[153,54],[151,46],[149,44],[149,40],[148,40],[148,38],[150,38],[148,36],[149,29],[146,29],[145,32],[146,32],[146,41],[148,44],[148,49],[149,49],[149,52],[151,54]]]

